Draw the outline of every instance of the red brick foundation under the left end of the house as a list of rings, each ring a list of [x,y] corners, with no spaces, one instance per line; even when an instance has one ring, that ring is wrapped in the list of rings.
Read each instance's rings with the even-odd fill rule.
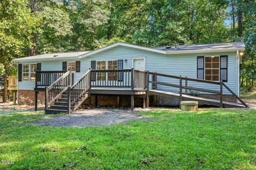
[[[34,90],[18,90],[18,104],[19,105],[35,105],[35,91]],[[39,91],[37,95],[37,102],[44,104],[45,94]]]

